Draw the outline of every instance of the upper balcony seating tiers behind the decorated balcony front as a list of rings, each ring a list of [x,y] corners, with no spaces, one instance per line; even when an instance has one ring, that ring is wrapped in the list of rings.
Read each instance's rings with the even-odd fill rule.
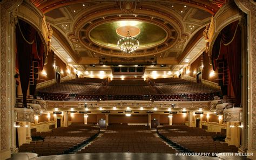
[[[181,94],[182,93],[182,94]],[[37,90],[44,100],[208,101],[221,92],[179,78],[107,80],[77,78]]]

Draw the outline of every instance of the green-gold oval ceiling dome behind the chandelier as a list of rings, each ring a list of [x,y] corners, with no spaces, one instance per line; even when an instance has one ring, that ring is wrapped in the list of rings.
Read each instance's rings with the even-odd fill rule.
[[[167,32],[158,25],[135,20],[118,20],[100,24],[89,31],[89,37],[98,45],[117,49],[117,41],[127,36],[139,40],[139,49],[159,45],[167,38]]]

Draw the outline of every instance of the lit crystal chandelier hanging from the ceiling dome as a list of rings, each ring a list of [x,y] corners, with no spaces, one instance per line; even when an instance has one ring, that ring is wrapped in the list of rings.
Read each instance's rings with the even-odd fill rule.
[[[127,31],[127,36],[120,38],[117,41],[117,46],[125,53],[131,53],[139,47],[139,40],[130,36],[129,31]]]

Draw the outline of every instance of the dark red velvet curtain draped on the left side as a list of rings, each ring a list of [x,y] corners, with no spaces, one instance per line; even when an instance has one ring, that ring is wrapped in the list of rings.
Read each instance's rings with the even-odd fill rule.
[[[16,47],[23,106],[26,107],[26,93],[29,87],[32,59],[39,61],[39,70],[42,70],[44,66],[44,45],[33,26],[21,19],[18,19],[16,25]],[[33,92],[35,92],[35,87]]]

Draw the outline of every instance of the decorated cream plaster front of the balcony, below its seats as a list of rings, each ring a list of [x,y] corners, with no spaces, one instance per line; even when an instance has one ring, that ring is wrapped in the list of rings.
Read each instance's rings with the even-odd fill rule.
[[[191,102],[191,101],[47,101],[48,106],[47,110],[52,111],[56,106],[61,110],[69,110],[74,108],[76,111],[84,111],[84,104],[87,103],[87,107],[91,112],[99,111],[98,107],[103,107],[104,110],[112,110],[112,107],[119,107],[119,110],[125,110],[126,107],[130,107],[132,110],[139,110],[139,107],[146,110],[152,110],[152,108],[157,107],[158,112],[167,111],[167,108],[170,108],[174,104],[172,110],[180,111],[183,108],[186,108],[187,111],[197,111],[198,108],[203,108],[205,111],[210,110],[210,101],[200,101],[200,102]],[[133,108],[134,107],[134,108]],[[143,112],[143,111],[142,111]]]

